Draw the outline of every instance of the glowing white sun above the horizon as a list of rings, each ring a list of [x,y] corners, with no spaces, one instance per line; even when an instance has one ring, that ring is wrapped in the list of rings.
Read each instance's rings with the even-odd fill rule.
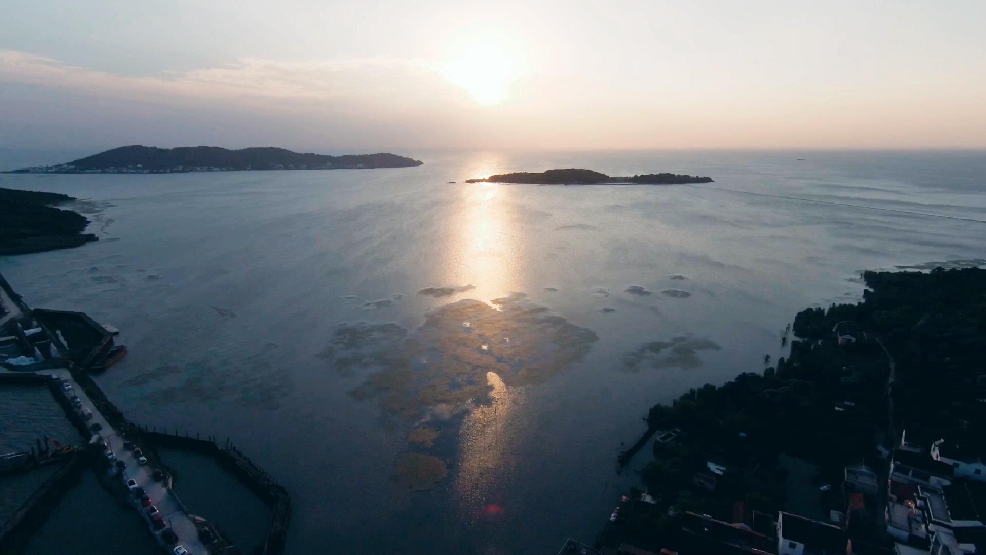
[[[510,86],[519,72],[511,52],[492,43],[462,47],[442,69],[450,83],[464,89],[482,106],[509,99]]]

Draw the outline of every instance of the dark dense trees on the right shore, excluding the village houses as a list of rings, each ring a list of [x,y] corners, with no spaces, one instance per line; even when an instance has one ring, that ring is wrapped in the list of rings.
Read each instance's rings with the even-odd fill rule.
[[[605,527],[599,545],[673,545],[675,515],[686,511],[734,521],[737,502],[783,510],[788,472],[781,454],[817,465],[816,480],[835,484],[843,467],[860,459],[881,472],[878,445],[892,446],[905,429],[909,436],[981,440],[986,270],[863,278],[869,289],[862,302],[798,313],[791,355],[776,367],[650,409],[647,433],[620,464],[658,436],[641,471],[656,503],[635,502]],[[818,502],[826,504],[826,493],[819,491]]]

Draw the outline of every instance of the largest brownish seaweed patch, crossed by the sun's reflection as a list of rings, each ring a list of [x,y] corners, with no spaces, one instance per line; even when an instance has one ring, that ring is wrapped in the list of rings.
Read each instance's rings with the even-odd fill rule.
[[[599,337],[526,296],[492,299],[497,308],[461,299],[425,314],[410,334],[394,324],[342,326],[319,357],[348,374],[373,369],[350,395],[414,419],[432,407],[485,399],[487,372],[507,385],[540,383],[584,357]]]

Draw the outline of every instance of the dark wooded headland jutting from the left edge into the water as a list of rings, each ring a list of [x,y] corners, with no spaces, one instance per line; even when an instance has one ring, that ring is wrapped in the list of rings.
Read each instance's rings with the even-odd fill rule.
[[[68,249],[96,241],[83,233],[89,220],[51,204],[75,198],[60,193],[41,193],[0,188],[0,255],[25,255]]]

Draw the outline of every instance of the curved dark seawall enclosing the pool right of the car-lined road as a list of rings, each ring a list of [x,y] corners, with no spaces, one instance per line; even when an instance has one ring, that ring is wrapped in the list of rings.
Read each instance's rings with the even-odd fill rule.
[[[141,436],[150,443],[162,447],[187,449],[214,457],[270,508],[271,519],[267,527],[263,555],[284,553],[288,525],[291,522],[291,496],[284,487],[274,482],[270,475],[250,461],[240,449],[234,445],[221,447],[211,438],[170,435],[148,431],[146,428],[142,430]]]

